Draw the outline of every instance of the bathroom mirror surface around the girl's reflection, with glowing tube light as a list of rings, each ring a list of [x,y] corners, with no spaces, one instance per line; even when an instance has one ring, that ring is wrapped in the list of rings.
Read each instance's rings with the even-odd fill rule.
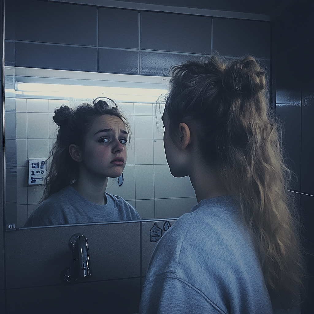
[[[169,77],[5,68],[7,229],[21,228],[38,206],[44,185],[43,161],[56,139],[54,110],[105,96],[116,101],[131,127],[124,182],[109,178],[106,192],[122,197],[141,219],[176,218],[197,204],[188,177],[171,176],[163,146],[161,111]],[[157,109],[157,110],[156,110]],[[30,179],[30,165],[40,175]],[[44,165],[47,169],[44,169]],[[34,170],[33,170],[34,171]],[[33,177],[34,178],[34,177]],[[11,228],[9,227],[11,226]]]

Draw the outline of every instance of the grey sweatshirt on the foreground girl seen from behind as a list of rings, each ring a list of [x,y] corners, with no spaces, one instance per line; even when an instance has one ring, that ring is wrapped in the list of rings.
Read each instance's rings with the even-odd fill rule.
[[[204,199],[165,232],[151,257],[140,314],[272,314],[249,230],[230,196]],[[300,313],[300,306],[288,313]]]

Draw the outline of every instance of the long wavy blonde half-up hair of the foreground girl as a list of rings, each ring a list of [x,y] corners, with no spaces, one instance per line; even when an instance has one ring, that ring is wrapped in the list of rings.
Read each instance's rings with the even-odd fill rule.
[[[290,194],[265,71],[254,58],[187,61],[171,68],[165,112],[178,143],[181,122],[194,122],[203,157],[216,165],[241,208],[272,300],[285,309],[306,293],[299,219]]]

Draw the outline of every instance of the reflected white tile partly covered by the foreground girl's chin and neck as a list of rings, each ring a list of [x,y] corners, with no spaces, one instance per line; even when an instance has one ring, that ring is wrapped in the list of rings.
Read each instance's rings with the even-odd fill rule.
[[[188,176],[175,178],[168,165],[154,165],[155,198],[195,197]]]

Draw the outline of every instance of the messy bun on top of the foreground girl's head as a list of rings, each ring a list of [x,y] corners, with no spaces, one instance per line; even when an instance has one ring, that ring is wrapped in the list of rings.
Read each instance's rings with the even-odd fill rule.
[[[222,84],[227,94],[252,96],[265,89],[265,71],[253,57],[232,61],[224,71]]]

